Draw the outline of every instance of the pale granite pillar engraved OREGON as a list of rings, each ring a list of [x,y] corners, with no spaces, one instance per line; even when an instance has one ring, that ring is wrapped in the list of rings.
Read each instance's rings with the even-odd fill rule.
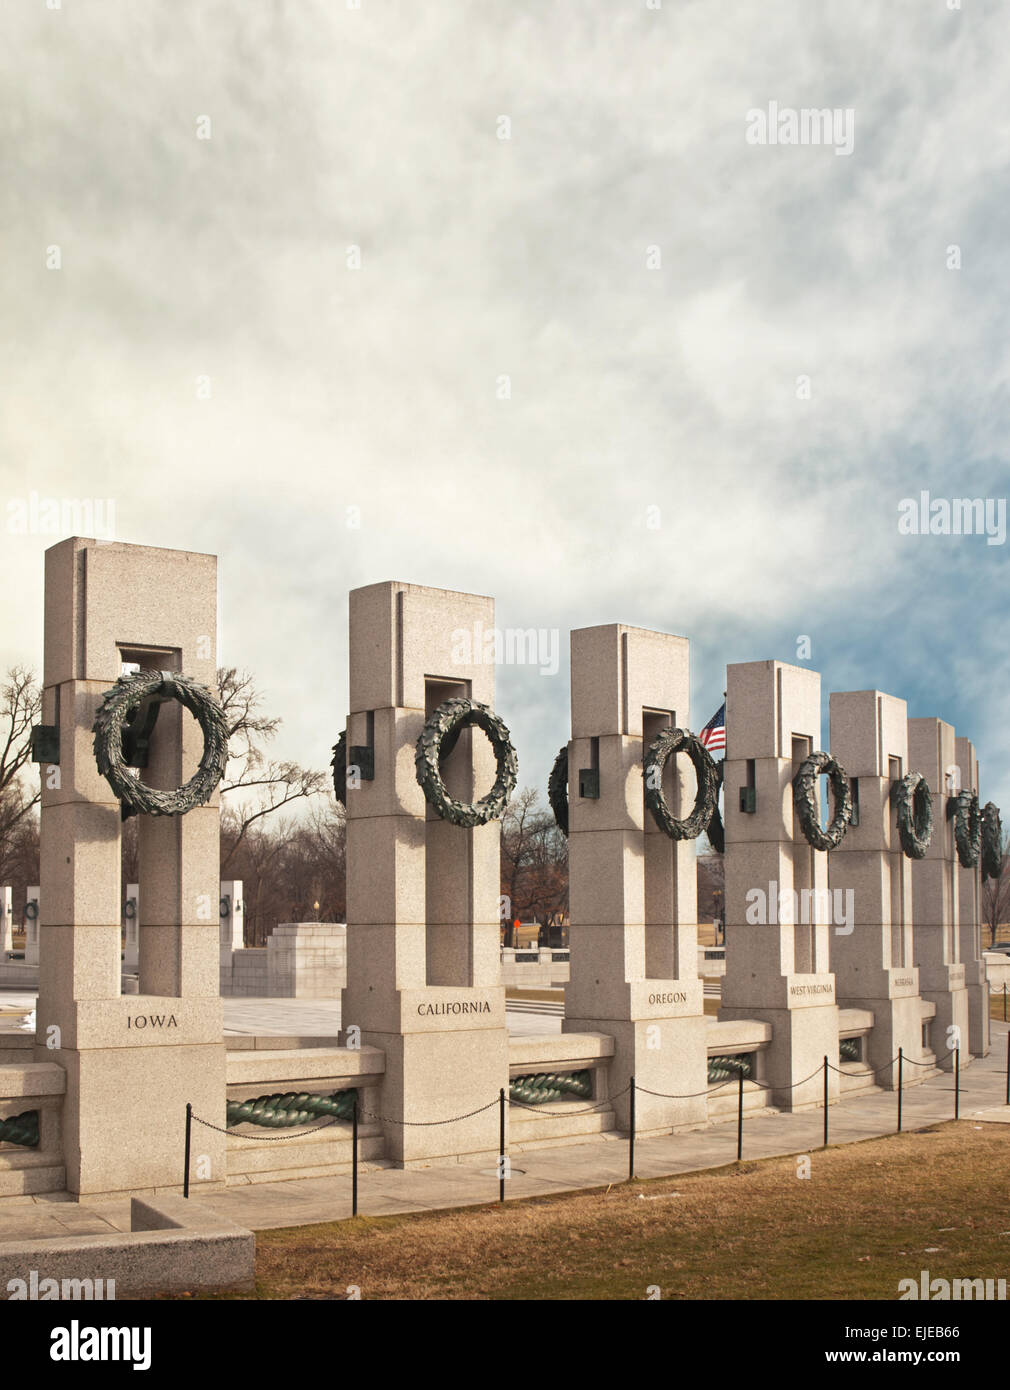
[[[640,1133],[697,1127],[707,1111],[695,841],[670,840],[656,824],[642,776],[656,735],[689,728],[689,691],[684,637],[621,623],[571,634],[571,977],[563,1029],[613,1036],[614,1112],[628,1127],[634,1076]],[[674,816],[690,812],[696,780],[682,753],[667,760],[663,791]]]

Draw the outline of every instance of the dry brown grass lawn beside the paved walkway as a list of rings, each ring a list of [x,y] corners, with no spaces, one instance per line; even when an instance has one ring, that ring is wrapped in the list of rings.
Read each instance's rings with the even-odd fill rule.
[[[1010,1127],[914,1134],[688,1177],[257,1234],[253,1298],[888,1298],[1010,1276]],[[367,1193],[367,1177],[363,1183]],[[224,1297],[231,1297],[225,1294]]]

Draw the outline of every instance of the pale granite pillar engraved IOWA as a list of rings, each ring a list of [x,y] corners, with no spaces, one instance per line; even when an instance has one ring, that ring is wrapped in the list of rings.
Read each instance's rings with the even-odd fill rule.
[[[42,791],[36,1058],[67,1072],[74,1193],[179,1188],[186,1102],[224,1129],[217,796],[140,817],[139,994],[122,995],[121,806],[92,733],[124,663],[214,688],[215,649],[214,556],[79,537],[46,552],[43,723],[60,733],[60,776]],[[175,701],[160,709],[139,774],[150,785],[179,787],[201,756],[199,726],[182,714]],[[197,1190],[224,1184],[224,1145],[194,1130]]]

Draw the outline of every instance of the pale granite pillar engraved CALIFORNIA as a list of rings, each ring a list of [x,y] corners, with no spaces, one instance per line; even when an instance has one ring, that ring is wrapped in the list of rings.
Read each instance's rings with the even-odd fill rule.
[[[493,1158],[497,1106],[452,1125],[508,1086],[499,949],[499,840],[490,821],[442,820],[418,785],[414,751],[446,699],[493,708],[495,603],[472,594],[385,582],[350,595],[347,719],[347,986],[342,1029],[383,1048],[379,1109],[400,1166]],[[356,763],[370,749],[374,776]],[[363,762],[365,762],[363,758]],[[356,769],[358,770],[356,773]],[[464,730],[442,762],[452,796],[490,790],[485,735]]]

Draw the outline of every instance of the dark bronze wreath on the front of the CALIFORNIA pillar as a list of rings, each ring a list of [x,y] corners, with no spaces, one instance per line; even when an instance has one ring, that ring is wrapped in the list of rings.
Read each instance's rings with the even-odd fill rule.
[[[495,785],[486,796],[477,802],[456,801],[450,796],[439,771],[443,742],[447,745],[446,752],[449,752],[460,733],[468,726],[485,731],[497,762]],[[443,820],[467,828],[486,826],[489,820],[500,820],[508,805],[508,798],[515,790],[520,770],[511,735],[504,723],[486,705],[458,696],[443,701],[425,721],[417,739],[414,769],[428,805],[433,806]]]

